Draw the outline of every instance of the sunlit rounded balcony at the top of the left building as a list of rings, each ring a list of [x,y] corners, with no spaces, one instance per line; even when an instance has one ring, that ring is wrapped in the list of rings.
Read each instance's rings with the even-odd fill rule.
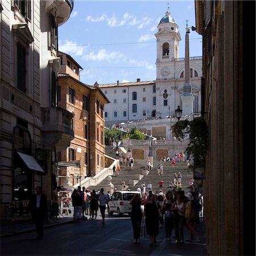
[[[57,26],[66,22],[73,10],[74,0],[48,0],[46,12],[55,16]]]

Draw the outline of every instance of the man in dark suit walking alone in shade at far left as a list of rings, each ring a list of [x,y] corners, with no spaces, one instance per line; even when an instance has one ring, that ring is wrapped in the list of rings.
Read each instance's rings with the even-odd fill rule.
[[[42,239],[44,218],[47,214],[47,196],[42,193],[42,188],[39,186],[36,187],[36,193],[31,197],[30,211],[35,221],[36,232],[38,233],[36,239]]]

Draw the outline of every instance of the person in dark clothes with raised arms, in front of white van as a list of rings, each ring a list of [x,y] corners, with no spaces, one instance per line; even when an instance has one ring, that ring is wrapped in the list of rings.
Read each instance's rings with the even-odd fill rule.
[[[143,200],[139,194],[134,194],[129,202],[131,204],[131,224],[133,225],[133,242],[140,243]]]

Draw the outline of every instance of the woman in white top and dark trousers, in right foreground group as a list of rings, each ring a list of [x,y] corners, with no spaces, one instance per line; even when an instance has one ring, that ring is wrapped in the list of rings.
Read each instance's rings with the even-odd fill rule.
[[[185,204],[181,200],[181,195],[177,194],[176,202],[172,204],[172,210],[177,211],[177,216],[174,217],[174,229],[175,229],[175,243],[184,243],[183,235],[183,224],[184,224],[184,214],[185,214]]]

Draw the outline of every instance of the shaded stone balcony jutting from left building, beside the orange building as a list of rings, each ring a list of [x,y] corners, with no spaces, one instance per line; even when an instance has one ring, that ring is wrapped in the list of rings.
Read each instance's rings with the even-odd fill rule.
[[[56,146],[57,150],[65,150],[72,139],[73,114],[62,108],[42,109],[42,132],[47,147]]]

